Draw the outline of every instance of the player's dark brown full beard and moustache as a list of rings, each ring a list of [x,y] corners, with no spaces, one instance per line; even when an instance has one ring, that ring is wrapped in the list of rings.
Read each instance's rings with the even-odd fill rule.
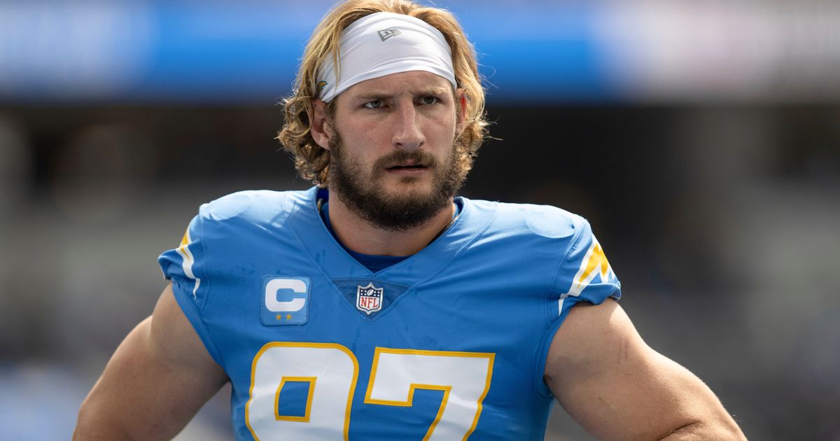
[[[423,150],[396,150],[376,160],[365,170],[358,160],[344,155],[341,136],[335,132],[329,141],[329,187],[354,211],[375,228],[406,231],[433,218],[449,206],[455,192],[464,185],[467,171],[459,161],[458,139],[453,140],[449,156],[442,162]],[[433,172],[428,191],[412,188],[415,178],[407,176],[395,188],[382,186],[390,166],[416,160]]]

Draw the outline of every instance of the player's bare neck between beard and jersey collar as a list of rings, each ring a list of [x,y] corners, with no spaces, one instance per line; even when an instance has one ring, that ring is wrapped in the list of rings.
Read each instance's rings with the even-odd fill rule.
[[[406,231],[377,228],[360,218],[339,197],[329,192],[329,223],[345,247],[365,255],[413,255],[425,248],[449,226],[455,213],[454,203],[433,218]]]

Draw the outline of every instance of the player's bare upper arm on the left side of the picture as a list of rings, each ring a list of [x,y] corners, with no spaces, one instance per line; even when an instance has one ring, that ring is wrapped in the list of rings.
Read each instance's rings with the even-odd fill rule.
[[[170,284],[81,404],[73,440],[171,439],[226,381]]]

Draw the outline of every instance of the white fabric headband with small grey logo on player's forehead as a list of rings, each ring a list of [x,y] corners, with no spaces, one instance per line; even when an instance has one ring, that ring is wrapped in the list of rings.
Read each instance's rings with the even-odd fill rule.
[[[372,13],[350,24],[341,35],[339,63],[338,78],[331,55],[318,71],[318,95],[325,102],[361,81],[398,72],[427,71],[458,87],[444,34],[402,13]]]

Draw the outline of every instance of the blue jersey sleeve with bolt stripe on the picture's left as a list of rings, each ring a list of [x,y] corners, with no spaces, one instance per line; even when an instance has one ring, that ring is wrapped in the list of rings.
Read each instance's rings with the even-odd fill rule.
[[[195,328],[207,352],[213,360],[222,365],[216,345],[213,343],[202,318],[202,309],[207,302],[209,281],[207,280],[207,255],[202,243],[202,216],[192,218],[176,248],[166,250],[158,257],[158,264],[164,277],[172,282],[176,302]]]

